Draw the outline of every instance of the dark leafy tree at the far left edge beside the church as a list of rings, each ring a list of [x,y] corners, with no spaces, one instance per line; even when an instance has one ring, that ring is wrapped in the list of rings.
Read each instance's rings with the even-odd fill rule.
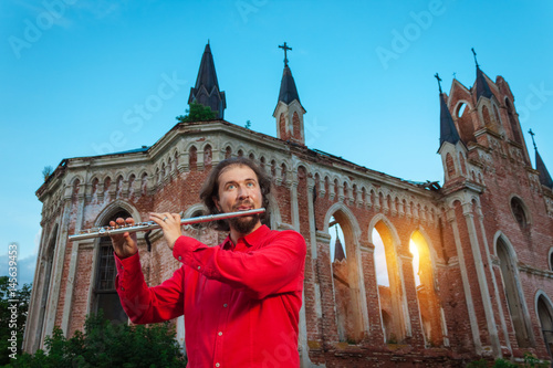
[[[10,361],[10,355],[21,353],[31,298],[31,285],[24,284],[23,287],[17,288],[18,284],[13,281],[9,276],[0,276],[0,366]],[[15,332],[17,346],[11,350],[12,344],[8,339],[13,339],[12,332]]]

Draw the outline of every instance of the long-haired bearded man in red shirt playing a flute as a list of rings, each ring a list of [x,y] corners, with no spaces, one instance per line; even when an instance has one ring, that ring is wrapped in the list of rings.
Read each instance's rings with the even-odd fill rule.
[[[200,198],[210,213],[269,209],[270,188],[264,171],[238,157],[210,172]],[[184,314],[188,367],[300,366],[298,324],[306,252],[302,235],[272,231],[259,215],[248,215],[219,222],[229,236],[207,246],[181,234],[177,213],[150,213],[150,219],[161,227],[182,265],[161,285],[148,287],[136,234],[112,236],[115,284],[131,320],[148,324]]]

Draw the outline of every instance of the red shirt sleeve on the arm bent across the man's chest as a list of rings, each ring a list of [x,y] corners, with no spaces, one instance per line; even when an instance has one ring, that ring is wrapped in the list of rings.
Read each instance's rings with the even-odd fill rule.
[[[303,287],[305,240],[295,231],[282,231],[269,244],[250,252],[207,246],[180,236],[174,256],[207,278],[217,280],[254,298],[290,293]]]

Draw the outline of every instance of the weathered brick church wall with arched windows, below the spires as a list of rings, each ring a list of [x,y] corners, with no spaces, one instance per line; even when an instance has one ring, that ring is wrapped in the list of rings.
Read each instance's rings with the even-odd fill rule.
[[[501,294],[493,248],[498,231],[517,250],[520,284],[534,335],[535,347],[530,350],[547,357],[533,306],[536,290],[553,295],[547,255],[541,255],[553,246],[553,227],[532,172],[523,170],[521,178],[530,178],[525,181],[505,175],[511,186],[518,186],[509,190],[517,191],[531,213],[530,230],[517,229],[510,207],[498,199],[509,186],[503,179],[494,183],[499,168],[486,171],[489,177],[482,181],[489,189],[476,196],[476,202],[471,196],[455,200],[451,193],[442,196],[226,122],[181,125],[144,153],[71,159],[56,170],[39,190],[44,203],[41,254],[45,254],[54,227],[60,229],[46,317],[40,328],[48,333],[58,325],[70,336],[82,328],[92,307],[98,242],[70,243],[69,233],[98,225],[117,209],[140,220],[150,211],[185,211],[191,215],[210,167],[237,155],[264,162],[264,169],[273,175],[273,227],[296,229],[307,243],[301,318],[304,327],[300,329],[303,361],[326,367],[392,362],[455,367],[493,355],[493,341],[500,354],[521,356],[523,349],[517,346]],[[504,166],[503,158],[499,160],[497,166]],[[520,169],[511,168],[512,172]],[[340,223],[345,236],[347,257],[340,263],[333,263],[330,254],[331,218]],[[386,229],[397,278],[394,287],[377,285],[374,229]],[[206,243],[221,241],[221,235],[212,231],[191,227],[185,231]],[[417,231],[428,246],[425,272],[431,274],[424,287],[416,285],[409,251]],[[170,276],[178,262],[161,234],[152,238],[150,252],[142,238],[139,248],[146,280],[156,285]],[[480,254],[477,257],[474,250]],[[38,280],[43,272],[38,265]],[[482,296],[482,280],[487,281],[488,299]],[[30,328],[39,328],[40,298],[39,287],[33,291]],[[490,334],[490,325],[495,326],[497,336]],[[393,329],[398,332],[394,337],[389,334]],[[36,346],[31,335],[25,336],[28,350]]]

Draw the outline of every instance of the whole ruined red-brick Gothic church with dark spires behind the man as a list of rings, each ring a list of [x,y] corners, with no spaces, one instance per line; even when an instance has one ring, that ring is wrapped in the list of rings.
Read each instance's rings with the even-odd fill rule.
[[[531,166],[503,77],[492,81],[477,63],[472,87],[453,80],[447,95],[440,86],[440,145],[429,149],[442,159],[441,187],[306,147],[306,111],[288,59],[276,137],[225,120],[209,44],[194,101],[217,118],[179,123],[150,147],[63,159],[39,188],[42,238],[24,350],[42,348],[54,326],[72,336],[101,308],[128,320],[109,239],[70,242],[69,234],[116,217],[145,221],[150,211],[199,215],[211,167],[244,156],[273,177],[271,228],[295,229],[307,244],[302,367],[461,367],[521,361],[525,353],[552,359],[553,180],[535,147]],[[211,245],[226,236],[199,224],[184,232]],[[179,263],[158,230],[150,240],[138,235],[146,281],[157,285]],[[182,317],[174,323],[184,344]],[[283,354],[275,347],[267,367]]]

